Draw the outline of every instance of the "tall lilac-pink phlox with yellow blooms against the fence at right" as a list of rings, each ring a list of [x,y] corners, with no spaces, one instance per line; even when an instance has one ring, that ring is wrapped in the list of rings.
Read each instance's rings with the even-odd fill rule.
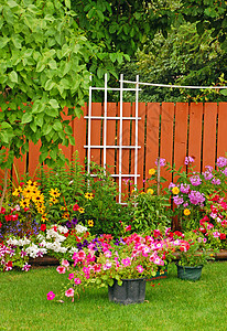
[[[217,160],[217,166],[227,164],[224,162],[225,158]],[[227,161],[227,159],[225,159]],[[172,193],[172,200],[175,205],[175,214],[181,221],[183,229],[192,229],[199,227],[199,221],[206,214],[206,206],[208,204],[208,196],[212,193],[223,194],[223,190],[226,189],[226,175],[225,170],[218,168],[214,170],[207,166],[205,172],[202,174],[193,171],[191,164],[194,162],[192,157],[185,158],[185,164],[188,167],[188,173],[185,171],[172,169],[170,164],[166,167],[176,177],[175,183],[171,182],[169,190]],[[227,171],[226,171],[227,173]]]

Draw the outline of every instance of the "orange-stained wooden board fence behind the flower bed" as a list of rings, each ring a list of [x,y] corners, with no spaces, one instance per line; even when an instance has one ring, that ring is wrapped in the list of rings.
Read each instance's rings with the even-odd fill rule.
[[[93,116],[104,115],[104,106],[93,104]],[[120,107],[109,103],[107,116],[119,116]],[[133,117],[134,104],[123,103],[123,116]],[[87,106],[84,107],[84,116]],[[158,157],[166,159],[179,168],[184,163],[185,156],[195,159],[195,170],[203,171],[205,166],[215,167],[218,157],[227,151],[227,103],[140,103],[139,104],[138,142],[138,186],[143,186],[143,180],[149,177],[149,169],[153,168]],[[134,145],[136,126],[133,120],[123,120],[122,143]],[[78,150],[83,163],[87,153],[87,119],[74,119],[72,128],[76,145],[62,148],[65,156],[72,160],[73,153]],[[102,120],[91,120],[90,145],[102,145]],[[107,120],[107,145],[117,146],[119,141],[119,120]],[[30,142],[26,157],[15,160],[15,168],[20,173],[28,171],[34,175],[39,164],[40,143]],[[102,149],[91,148],[91,160],[101,164]],[[118,173],[119,149],[107,150],[107,164],[111,173]],[[134,150],[125,149],[122,153],[122,173],[133,173]],[[162,169],[161,175],[171,181],[171,174]],[[128,178],[127,178],[128,179]]]

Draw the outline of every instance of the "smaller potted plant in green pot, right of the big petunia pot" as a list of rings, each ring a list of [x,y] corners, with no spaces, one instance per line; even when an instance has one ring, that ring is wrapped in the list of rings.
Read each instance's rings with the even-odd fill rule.
[[[187,280],[198,280],[202,268],[209,259],[214,259],[213,250],[207,239],[196,231],[188,232],[184,238],[175,241],[179,254],[177,277]]]

